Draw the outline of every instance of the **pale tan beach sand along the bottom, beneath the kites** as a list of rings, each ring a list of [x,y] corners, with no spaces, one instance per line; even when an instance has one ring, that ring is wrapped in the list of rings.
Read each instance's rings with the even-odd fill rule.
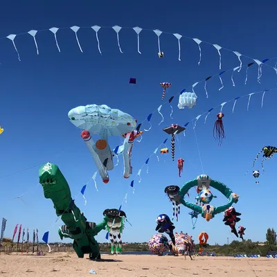
[[[277,276],[277,259],[274,258],[226,258],[150,255],[102,255],[101,262],[79,259],[75,253],[46,253],[45,256],[21,256],[1,253],[0,276],[44,277],[145,277],[145,276]]]

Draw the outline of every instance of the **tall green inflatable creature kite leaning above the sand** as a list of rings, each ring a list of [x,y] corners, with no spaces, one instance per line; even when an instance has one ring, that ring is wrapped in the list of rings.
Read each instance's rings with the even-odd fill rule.
[[[60,238],[73,239],[73,249],[78,258],[100,259],[98,242],[94,238],[101,230],[106,228],[109,218],[96,225],[94,222],[87,222],[80,209],[71,198],[71,190],[60,168],[53,163],[46,163],[39,168],[39,183],[42,184],[44,197],[53,201],[57,216],[61,216],[65,225],[60,227]]]

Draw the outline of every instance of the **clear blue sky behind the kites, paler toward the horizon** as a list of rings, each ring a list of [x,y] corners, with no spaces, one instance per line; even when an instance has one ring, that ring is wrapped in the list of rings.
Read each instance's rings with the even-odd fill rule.
[[[50,161],[60,166],[71,187],[73,197],[78,195],[82,186],[96,171],[86,145],[80,141],[80,131],[67,118],[73,107],[96,103],[121,109],[132,114],[139,122],[161,105],[162,89],[160,82],[172,82],[166,100],[193,83],[222,70],[233,69],[239,65],[238,58],[222,50],[222,70],[219,69],[219,56],[215,48],[202,44],[202,63],[198,66],[199,50],[191,39],[181,39],[181,62],[178,60],[178,42],[173,35],[162,34],[161,49],[163,59],[157,57],[157,36],[152,31],[142,31],[141,53],[136,46],[136,33],[132,29],[120,31],[120,45],[124,52],[118,50],[116,33],[111,28],[99,31],[102,55],[98,52],[96,35],[90,28],[80,29],[78,37],[83,49],[80,52],[75,35],[69,27],[77,26],[140,26],[146,29],[160,29],[168,33],[180,33],[187,37],[197,37],[212,44],[219,44],[249,57],[263,60],[277,57],[276,16],[274,4],[269,1],[251,1],[251,5],[242,1],[186,1],[186,3],[169,4],[168,1],[9,1],[0,11],[0,37],[10,34],[28,32],[28,30],[48,29],[53,26],[66,28],[59,30],[57,39],[61,53],[57,51],[55,39],[50,31],[37,33],[36,39],[39,55],[30,35],[16,37],[15,44],[21,62],[8,39],[1,39],[0,44],[0,90],[1,109],[0,125],[5,132],[0,136],[0,217],[8,222],[5,236],[12,236],[15,224],[25,228],[39,229],[39,238],[49,231],[49,240],[58,241],[57,229],[61,221],[55,223],[55,211],[51,200],[44,199],[42,187],[38,184],[38,165]],[[268,3],[267,3],[268,2]],[[267,7],[267,8],[265,8]],[[269,8],[271,7],[271,8]],[[243,64],[253,62],[242,57]],[[271,60],[274,66],[277,60]],[[197,105],[193,109],[179,110],[178,98],[172,101],[174,119],[170,118],[170,107],[162,109],[164,122],[158,126],[159,114],[152,117],[152,129],[143,134],[141,143],[135,143],[132,163],[134,175],[150,157],[155,148],[167,138],[161,130],[172,123],[184,125],[198,114],[221,102],[231,100],[263,89],[276,88],[277,76],[274,69],[262,68],[261,83],[257,82],[258,66],[249,68],[249,79],[244,84],[245,67],[240,73],[234,73],[236,86],[232,86],[231,72],[222,75],[224,89],[219,91],[218,77],[208,81],[209,97],[206,98],[204,83],[195,87]],[[137,84],[130,85],[129,78],[136,78]],[[191,91],[188,89],[188,91]],[[202,158],[204,173],[213,179],[224,182],[240,195],[237,211],[242,213],[240,224],[247,228],[245,238],[265,240],[268,227],[277,229],[273,221],[275,202],[271,199],[271,190],[275,188],[274,170],[276,157],[265,162],[265,175],[260,177],[260,184],[255,184],[251,174],[244,177],[244,172],[252,165],[257,152],[264,145],[276,143],[276,105],[274,95],[269,91],[265,95],[264,107],[260,108],[262,93],[252,96],[247,111],[247,99],[238,100],[235,112],[233,102],[224,107],[224,127],[226,139],[222,147],[217,147],[213,139],[213,124],[219,109],[215,109],[206,124],[204,117],[197,122],[195,132],[188,126],[186,136],[179,136],[176,146],[176,161],[172,162],[170,154],[152,157],[149,173],[142,171],[141,183],[135,181],[135,193],[128,194],[123,211],[127,214],[129,224],[123,233],[123,241],[148,241],[155,233],[155,219],[160,213],[172,215],[172,205],[163,190],[169,184],[182,186],[186,181],[202,174],[202,166],[197,150]],[[143,125],[148,128],[148,125]],[[120,143],[120,138],[111,139],[111,147]],[[170,145],[168,144],[170,148]],[[64,152],[62,152],[64,150]],[[59,153],[62,154],[59,155]],[[184,172],[178,177],[177,159],[185,159]],[[106,208],[118,208],[129,188],[130,179],[123,178],[122,157],[120,164],[110,172],[109,184],[102,184],[99,176],[98,190],[90,182],[87,186],[87,206],[79,195],[75,203],[92,222],[102,220],[102,211]],[[37,166],[37,167],[34,167]],[[34,167],[34,168],[31,168]],[[26,170],[26,168],[31,168]],[[261,170],[260,161],[256,169]],[[15,172],[19,172],[15,174]],[[22,199],[15,197],[27,192]],[[218,206],[226,201],[219,196],[213,200]],[[195,191],[190,192],[194,202]],[[192,229],[188,208],[181,207],[179,222],[175,223],[177,231],[186,231],[197,237],[206,231],[210,243],[226,243],[233,236],[229,227],[222,222],[223,215],[216,215],[206,222],[199,218],[196,229]],[[254,219],[254,220],[253,220]],[[105,231],[98,237],[105,241]]]

